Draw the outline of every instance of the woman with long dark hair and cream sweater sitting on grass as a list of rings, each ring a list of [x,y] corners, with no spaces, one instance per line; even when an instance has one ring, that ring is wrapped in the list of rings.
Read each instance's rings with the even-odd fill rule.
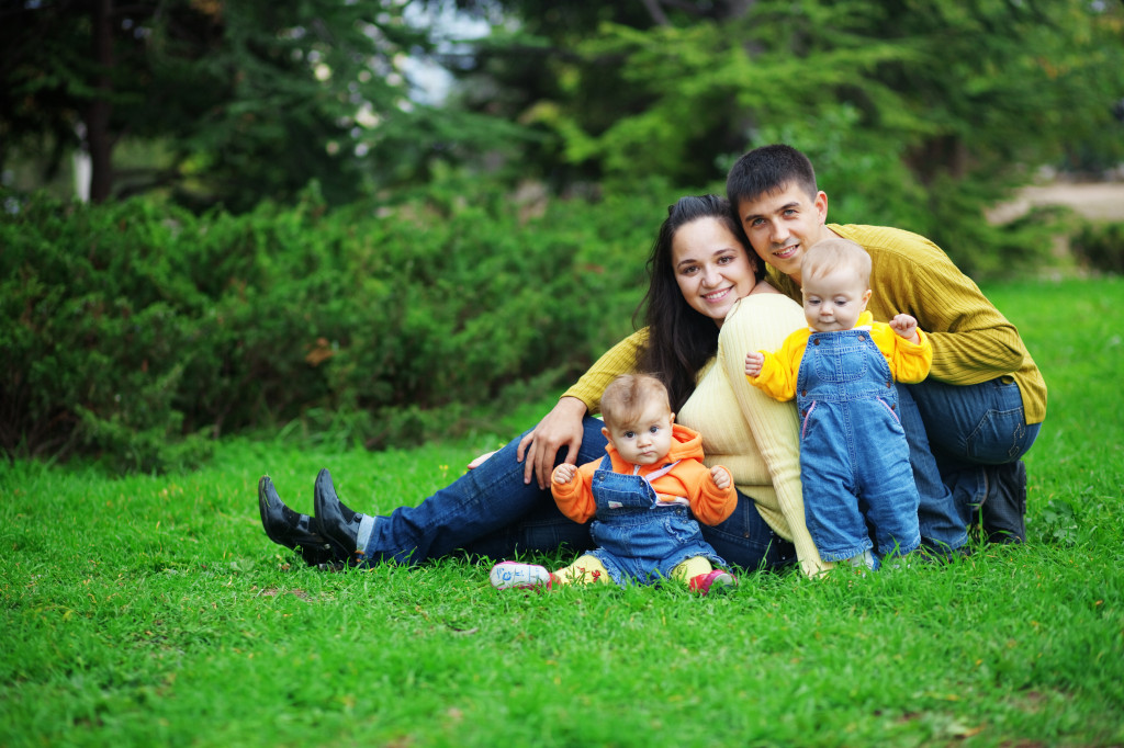
[[[636,368],[659,374],[679,422],[703,434],[707,462],[731,469],[737,509],[725,522],[704,528],[715,550],[744,568],[798,559],[805,573],[815,573],[823,563],[804,521],[796,411],[758,391],[743,373],[747,350],[774,349],[804,325],[801,308],[764,282],[763,266],[729,204],[716,195],[682,198],[669,209],[649,274],[646,329],[602,361],[626,357]],[[536,484],[531,475],[544,454],[551,454],[550,462],[562,462],[560,444],[568,447],[565,462],[583,464],[605,454],[599,420],[586,416],[580,434],[571,428],[565,438],[556,436],[556,425],[575,410],[597,412],[607,384],[587,374],[522,440],[475,464],[418,507],[396,509],[389,517],[344,507],[327,471],[317,476],[312,518],[284,507],[263,477],[262,524],[275,542],[299,546],[309,564],[420,563],[457,549],[504,558],[562,544],[589,549],[587,526],[563,517],[546,481]]]

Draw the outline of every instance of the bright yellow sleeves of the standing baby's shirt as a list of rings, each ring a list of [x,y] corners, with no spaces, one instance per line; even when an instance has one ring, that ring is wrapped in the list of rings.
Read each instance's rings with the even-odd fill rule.
[[[870,328],[870,339],[889,364],[890,376],[895,382],[915,384],[928,375],[930,364],[933,362],[933,345],[923,330],[917,329],[919,343],[915,344],[896,334],[886,322],[874,322],[869,311],[859,316],[855,328],[860,327]],[[812,332],[808,328],[797,330],[785,338],[780,350],[762,350],[765,361],[761,365],[761,373],[747,377],[750,382],[776,400],[795,398],[800,359],[804,358]]]

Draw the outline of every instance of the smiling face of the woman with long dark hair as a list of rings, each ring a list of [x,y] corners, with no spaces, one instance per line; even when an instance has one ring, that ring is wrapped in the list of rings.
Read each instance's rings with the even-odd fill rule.
[[[676,231],[671,266],[688,305],[718,327],[756,285],[745,247],[717,218],[699,218]]]

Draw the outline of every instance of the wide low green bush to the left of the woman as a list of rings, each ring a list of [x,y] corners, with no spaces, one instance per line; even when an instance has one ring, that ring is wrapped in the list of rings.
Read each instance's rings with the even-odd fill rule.
[[[455,431],[631,330],[669,202],[520,218],[479,184],[237,217],[33,200],[0,218],[0,447],[153,471],[293,419],[368,447]]]

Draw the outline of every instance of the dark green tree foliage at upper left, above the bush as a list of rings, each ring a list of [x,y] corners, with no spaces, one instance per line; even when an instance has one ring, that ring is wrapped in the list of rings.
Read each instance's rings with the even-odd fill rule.
[[[332,202],[423,180],[513,128],[430,112],[402,74],[429,42],[398,2],[42,0],[0,11],[0,167],[92,157],[96,200],[166,186],[245,210],[317,180]],[[123,139],[166,163],[114,168]]]

